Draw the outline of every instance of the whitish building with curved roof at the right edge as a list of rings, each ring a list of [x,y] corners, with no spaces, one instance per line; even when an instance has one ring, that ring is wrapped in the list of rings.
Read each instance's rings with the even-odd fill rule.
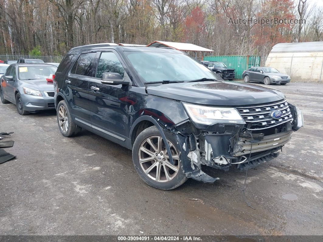
[[[266,59],[274,67],[291,76],[291,81],[323,81],[323,41],[279,43]]]

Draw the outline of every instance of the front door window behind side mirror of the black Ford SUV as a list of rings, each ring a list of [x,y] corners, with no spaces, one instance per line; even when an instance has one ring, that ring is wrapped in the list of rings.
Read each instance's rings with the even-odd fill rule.
[[[95,77],[102,78],[102,73],[104,72],[119,73],[121,77],[123,77],[124,75],[124,68],[121,65],[116,54],[114,54],[113,52],[101,53]]]

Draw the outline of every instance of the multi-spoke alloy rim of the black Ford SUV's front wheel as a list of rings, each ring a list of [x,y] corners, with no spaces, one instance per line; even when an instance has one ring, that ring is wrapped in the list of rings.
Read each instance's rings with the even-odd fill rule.
[[[169,155],[161,136],[151,136],[145,139],[139,149],[139,163],[143,172],[156,182],[169,182],[179,171],[179,155],[175,146],[167,140],[174,165],[169,162]]]

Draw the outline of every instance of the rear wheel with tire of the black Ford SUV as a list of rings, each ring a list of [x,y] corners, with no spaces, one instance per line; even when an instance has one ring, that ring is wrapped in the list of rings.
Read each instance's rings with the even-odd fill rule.
[[[61,100],[57,105],[57,123],[59,131],[65,137],[75,136],[82,131],[82,128],[74,123],[65,100]]]

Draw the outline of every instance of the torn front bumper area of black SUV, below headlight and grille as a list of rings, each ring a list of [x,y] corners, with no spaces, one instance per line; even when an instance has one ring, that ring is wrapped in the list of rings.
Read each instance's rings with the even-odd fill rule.
[[[187,177],[211,183],[219,178],[205,174],[201,165],[224,171],[235,165],[245,170],[276,158],[293,131],[304,124],[301,111],[293,105],[290,109],[293,120],[274,130],[274,134],[251,133],[243,124],[216,124],[197,129],[190,120],[173,127],[181,149],[182,170]]]

